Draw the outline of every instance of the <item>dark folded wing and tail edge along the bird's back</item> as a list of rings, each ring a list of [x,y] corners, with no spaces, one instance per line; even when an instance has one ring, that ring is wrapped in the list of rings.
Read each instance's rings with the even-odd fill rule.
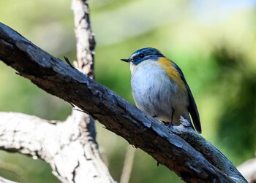
[[[202,129],[201,129],[201,123],[200,123],[200,117],[199,117],[199,113],[198,113],[198,110],[197,110],[197,104],[195,104],[195,99],[194,97],[192,96],[192,92],[189,88],[189,85],[187,85],[187,81],[184,77],[184,74],[182,73],[181,69],[176,65],[176,63],[173,63],[173,66],[176,67],[177,71],[179,72],[179,74],[181,74],[181,79],[184,81],[185,85],[186,85],[186,88],[187,88],[187,93],[189,95],[189,107],[188,107],[188,111],[190,113],[190,116],[192,117],[192,120],[193,120],[193,124],[195,126],[195,130],[198,132],[198,133],[201,133],[202,132]]]

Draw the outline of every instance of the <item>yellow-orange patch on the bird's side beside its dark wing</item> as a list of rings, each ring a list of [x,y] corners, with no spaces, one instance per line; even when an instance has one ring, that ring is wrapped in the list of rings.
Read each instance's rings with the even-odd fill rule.
[[[167,76],[170,77],[170,79],[172,79],[173,82],[177,83],[178,89],[181,91],[186,90],[184,81],[181,79],[181,74],[179,74],[175,66],[173,66],[172,62],[165,57],[160,57],[158,59],[159,65],[162,66],[163,69],[165,69]]]

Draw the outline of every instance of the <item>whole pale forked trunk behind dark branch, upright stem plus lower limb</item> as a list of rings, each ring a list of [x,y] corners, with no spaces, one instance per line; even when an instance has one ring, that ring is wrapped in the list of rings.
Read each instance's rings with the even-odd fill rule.
[[[75,67],[93,78],[95,42],[86,2],[72,1],[78,53]],[[0,116],[1,149],[45,160],[61,182],[115,182],[99,155],[94,120],[88,114],[73,110],[66,121],[58,123],[17,113]]]

